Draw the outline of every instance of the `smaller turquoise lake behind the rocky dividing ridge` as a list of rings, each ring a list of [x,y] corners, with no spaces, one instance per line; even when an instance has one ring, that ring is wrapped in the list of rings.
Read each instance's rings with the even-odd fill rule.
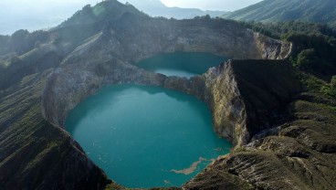
[[[210,53],[162,53],[151,58],[145,58],[135,65],[142,69],[148,69],[166,76],[178,76],[190,78],[200,75],[207,69],[218,66],[227,58],[215,56]]]

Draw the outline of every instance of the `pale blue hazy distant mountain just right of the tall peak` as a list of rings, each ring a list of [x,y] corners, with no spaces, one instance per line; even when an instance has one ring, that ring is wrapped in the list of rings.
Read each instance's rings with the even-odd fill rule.
[[[183,19],[205,15],[215,17],[227,13],[226,11],[203,11],[197,8],[167,7],[160,0],[128,0],[127,2],[150,16],[163,16],[167,18]]]

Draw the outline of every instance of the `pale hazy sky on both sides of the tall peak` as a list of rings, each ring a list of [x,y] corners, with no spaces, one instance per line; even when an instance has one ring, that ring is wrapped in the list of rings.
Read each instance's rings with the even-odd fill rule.
[[[120,1],[126,3],[132,0]],[[233,11],[259,1],[261,0],[162,0],[167,6],[224,11]],[[101,0],[0,0],[0,35],[12,34],[22,28],[33,31],[57,26],[84,5],[96,5],[99,2]]]

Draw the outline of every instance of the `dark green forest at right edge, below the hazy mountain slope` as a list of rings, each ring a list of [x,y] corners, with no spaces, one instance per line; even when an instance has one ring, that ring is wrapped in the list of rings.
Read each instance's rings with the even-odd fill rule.
[[[336,74],[336,31],[324,24],[303,22],[255,23],[243,26],[293,44],[289,60],[296,68],[330,81]]]

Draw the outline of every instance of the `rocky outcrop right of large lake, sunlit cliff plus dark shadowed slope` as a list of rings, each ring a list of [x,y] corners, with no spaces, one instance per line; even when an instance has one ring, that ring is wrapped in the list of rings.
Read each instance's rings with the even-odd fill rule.
[[[237,147],[283,121],[284,105],[300,90],[289,63],[281,60],[229,60],[189,80],[165,79],[163,86],[204,100],[215,132]]]

